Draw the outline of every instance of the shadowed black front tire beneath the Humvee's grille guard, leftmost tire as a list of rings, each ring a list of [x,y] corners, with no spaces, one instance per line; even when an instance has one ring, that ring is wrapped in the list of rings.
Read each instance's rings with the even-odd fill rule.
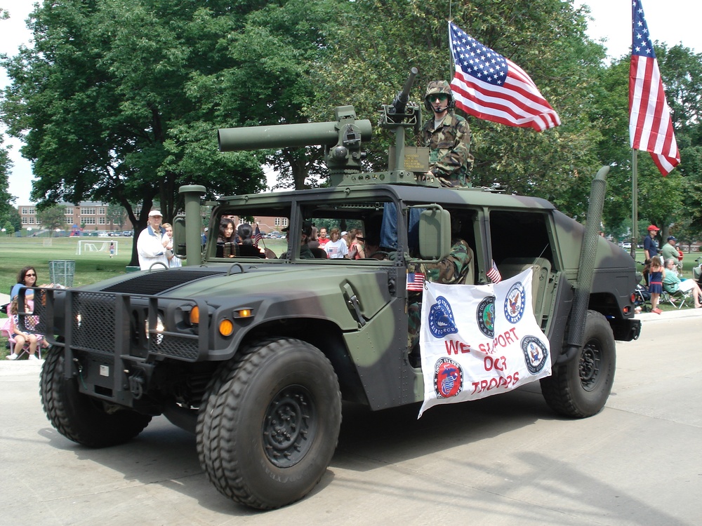
[[[41,405],[51,424],[69,440],[88,447],[107,447],[131,440],[151,417],[130,409],[106,412],[104,404],[78,389],[78,380],[64,377],[63,349],[46,353],[39,379]]]

